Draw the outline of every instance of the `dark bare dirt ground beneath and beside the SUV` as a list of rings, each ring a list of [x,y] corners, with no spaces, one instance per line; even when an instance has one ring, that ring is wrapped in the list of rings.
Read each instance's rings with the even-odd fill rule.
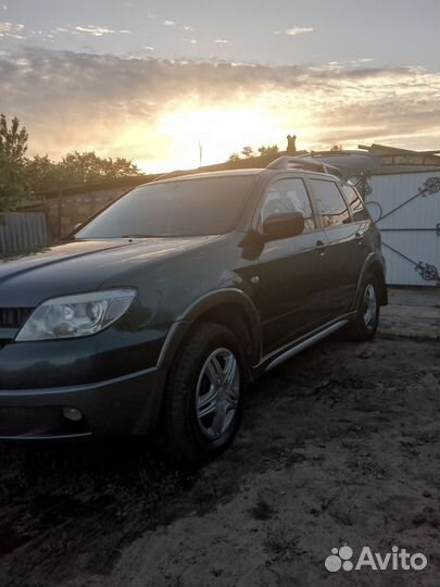
[[[0,586],[437,586],[440,290],[390,301],[373,344],[335,336],[253,385],[197,473],[139,442],[1,445]],[[329,573],[343,544],[428,565]]]

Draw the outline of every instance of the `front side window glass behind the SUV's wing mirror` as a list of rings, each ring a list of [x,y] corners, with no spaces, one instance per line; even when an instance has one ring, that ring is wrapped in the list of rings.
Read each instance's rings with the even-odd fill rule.
[[[315,229],[315,220],[304,182],[292,178],[279,179],[272,184],[261,210],[262,222],[274,214],[292,214],[293,212],[301,212],[304,216],[303,234]]]

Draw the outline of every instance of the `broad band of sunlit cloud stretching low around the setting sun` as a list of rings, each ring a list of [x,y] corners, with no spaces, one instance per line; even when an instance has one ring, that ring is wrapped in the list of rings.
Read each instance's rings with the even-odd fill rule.
[[[294,130],[307,148],[393,137],[429,149],[439,133],[437,74],[369,62],[267,66],[23,48],[0,52],[0,95],[1,111],[27,126],[30,152],[52,158],[93,148],[158,159],[173,141],[159,122],[198,109],[256,112],[271,132]]]

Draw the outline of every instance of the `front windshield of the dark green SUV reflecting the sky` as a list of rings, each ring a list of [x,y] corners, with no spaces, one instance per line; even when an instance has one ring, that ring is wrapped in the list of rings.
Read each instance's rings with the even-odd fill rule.
[[[140,186],[103,210],[76,239],[203,236],[230,232],[253,175],[184,179]]]

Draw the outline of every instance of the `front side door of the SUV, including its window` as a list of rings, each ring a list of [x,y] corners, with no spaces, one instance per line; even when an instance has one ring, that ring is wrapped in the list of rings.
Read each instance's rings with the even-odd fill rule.
[[[302,178],[281,177],[267,186],[259,209],[261,226],[274,214],[301,212],[304,230],[294,237],[266,241],[257,263],[256,301],[261,311],[264,354],[324,323],[325,232]]]

